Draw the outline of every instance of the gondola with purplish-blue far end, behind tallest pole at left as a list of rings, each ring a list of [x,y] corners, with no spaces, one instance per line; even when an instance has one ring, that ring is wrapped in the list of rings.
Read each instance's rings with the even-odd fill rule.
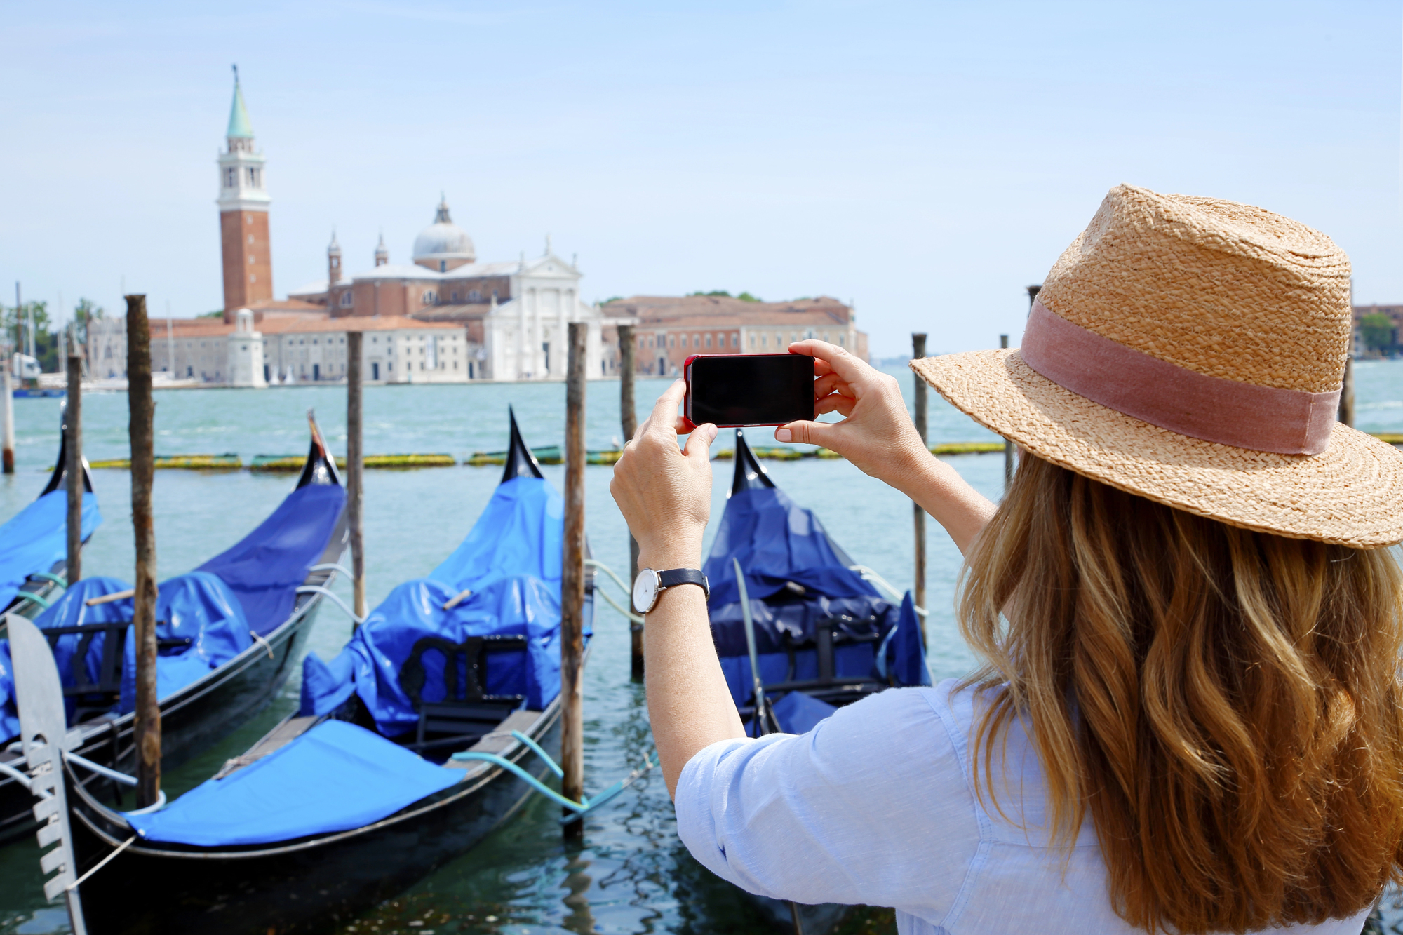
[[[307,460],[282,504],[231,549],[160,585],[163,769],[213,745],[276,696],[330,594],[347,542],[345,490],[310,413],[309,421]],[[125,581],[93,577],[35,618],[63,672],[76,752],[125,772],[136,762],[132,614]],[[0,837],[13,838],[34,827],[34,799],[15,775],[18,717],[3,640],[0,665],[0,723],[11,734],[0,748]],[[84,782],[94,796],[118,793],[107,779]]]

